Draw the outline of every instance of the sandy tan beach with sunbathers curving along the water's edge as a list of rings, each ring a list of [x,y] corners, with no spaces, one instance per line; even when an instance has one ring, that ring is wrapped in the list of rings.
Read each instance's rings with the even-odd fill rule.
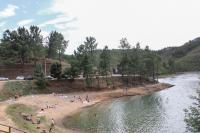
[[[110,100],[113,98],[119,98],[124,96],[135,96],[135,95],[148,95],[156,91],[169,88],[171,85],[158,83],[149,84],[140,87],[129,88],[127,93],[123,89],[105,90],[98,92],[73,92],[68,94],[45,94],[45,95],[29,95],[19,98],[18,100],[9,100],[3,102],[1,106],[8,106],[10,104],[24,104],[28,106],[36,106],[38,108],[37,115],[45,116],[47,122],[50,123],[51,118],[54,118],[56,128],[62,132],[77,132],[67,130],[63,126],[63,119],[67,116],[73,115],[84,107],[100,103],[102,101]],[[89,102],[86,102],[86,96],[89,97]],[[50,108],[46,109],[46,106]],[[6,107],[5,107],[6,108]],[[5,110],[3,110],[5,112]],[[1,116],[3,115],[3,116]],[[0,113],[0,118],[5,119],[5,113]],[[8,118],[8,117],[7,117]],[[1,120],[0,120],[1,122]]]

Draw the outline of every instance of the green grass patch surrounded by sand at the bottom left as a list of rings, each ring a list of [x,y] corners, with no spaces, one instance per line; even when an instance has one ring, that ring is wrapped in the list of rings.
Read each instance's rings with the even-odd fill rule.
[[[20,113],[26,113],[26,114],[35,114],[36,107],[28,107],[24,104],[13,104],[8,106],[6,109],[6,113],[10,116],[12,121],[23,130],[26,130],[30,133],[39,133],[39,130],[36,128],[36,125],[33,125],[31,122],[26,121],[23,119],[23,117],[20,115]],[[45,120],[44,118],[41,120]]]

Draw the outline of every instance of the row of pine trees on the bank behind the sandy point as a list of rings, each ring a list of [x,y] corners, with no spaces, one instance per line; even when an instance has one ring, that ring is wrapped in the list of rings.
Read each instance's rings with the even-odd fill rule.
[[[115,56],[112,50],[108,46],[105,46],[103,50],[97,50],[97,45],[94,37],[87,37],[71,56],[71,67],[65,71],[65,74],[72,79],[82,74],[87,87],[94,87],[94,80],[99,80],[100,77],[106,81],[107,85],[113,84],[114,70],[121,74],[127,86],[134,85],[136,77],[152,78],[152,80],[158,77],[161,58],[148,46],[145,49],[141,49],[139,43],[131,46],[126,38],[122,38],[119,42],[119,62],[115,66],[112,64],[112,58]]]

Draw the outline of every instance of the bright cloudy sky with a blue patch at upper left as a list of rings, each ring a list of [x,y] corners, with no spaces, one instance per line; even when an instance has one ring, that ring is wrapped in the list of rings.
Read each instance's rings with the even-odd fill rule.
[[[37,25],[61,32],[67,54],[87,36],[98,48],[118,48],[121,38],[153,50],[200,37],[199,0],[0,0],[0,36],[6,29]]]

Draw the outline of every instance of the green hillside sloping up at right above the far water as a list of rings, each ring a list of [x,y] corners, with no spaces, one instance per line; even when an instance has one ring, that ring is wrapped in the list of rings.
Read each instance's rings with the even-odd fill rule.
[[[180,47],[168,47],[159,50],[163,61],[173,60],[175,71],[200,70],[200,37]]]

